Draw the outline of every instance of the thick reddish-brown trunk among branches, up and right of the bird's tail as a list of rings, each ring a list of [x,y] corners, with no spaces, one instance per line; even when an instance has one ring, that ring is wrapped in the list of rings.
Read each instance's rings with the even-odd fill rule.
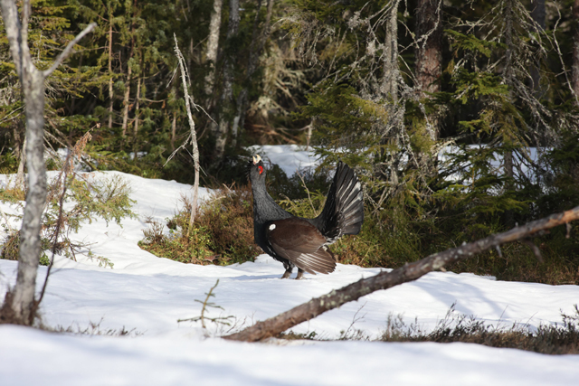
[[[441,90],[442,74],[442,23],[441,0],[418,0],[416,5],[415,76],[418,89],[424,92]],[[428,135],[432,141],[438,138],[438,120],[429,118]]]

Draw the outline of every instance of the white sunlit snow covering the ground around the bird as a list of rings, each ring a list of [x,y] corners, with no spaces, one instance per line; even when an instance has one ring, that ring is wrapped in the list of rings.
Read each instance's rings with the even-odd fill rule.
[[[281,163],[286,173],[316,162],[304,149],[263,147],[261,155]],[[240,329],[381,269],[338,264],[330,275],[306,274],[297,281],[280,280],[283,267],[267,255],[228,267],[159,259],[138,248],[145,221],[171,217],[180,196],[192,194],[190,186],[118,172],[95,178],[115,174],[131,185],[138,219],[122,221],[122,228],[114,222],[107,226],[105,221],[92,221],[73,235],[74,240],[92,243],[92,253],[110,259],[114,267],[99,267],[88,256],[79,256],[78,261],[57,257],[41,313],[43,324],[51,327],[88,328],[101,334],[124,329],[129,334],[53,334],[1,325],[0,385],[575,385],[579,379],[579,355],[550,356],[476,344],[279,340],[243,344],[219,338],[228,326],[206,322],[205,331],[199,322],[177,323],[200,315],[195,299],[204,300],[217,279],[211,300],[223,310],[213,308],[209,315],[232,315],[233,329]],[[0,186],[8,179],[0,176]],[[201,198],[208,193],[202,189]],[[7,203],[0,203],[0,209],[8,215],[21,211]],[[19,226],[13,221],[13,227]],[[0,297],[14,285],[16,268],[16,262],[0,259]],[[45,274],[46,268],[39,268],[39,289]],[[428,331],[453,304],[453,315],[533,328],[560,323],[561,312],[573,314],[578,299],[577,286],[433,272],[346,304],[292,331],[335,339],[362,330],[375,338],[389,316],[400,316],[406,325],[417,320],[422,331]]]

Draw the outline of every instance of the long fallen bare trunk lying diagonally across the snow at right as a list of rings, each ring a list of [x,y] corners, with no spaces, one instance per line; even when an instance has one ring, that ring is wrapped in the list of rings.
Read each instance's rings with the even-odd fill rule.
[[[541,231],[578,219],[579,206],[570,211],[553,214],[544,219],[532,221],[526,225],[513,228],[510,231],[489,236],[486,239],[435,253],[420,261],[394,269],[391,272],[382,272],[372,278],[363,278],[356,283],[333,290],[323,297],[311,299],[308,303],[296,306],[289,311],[271,317],[263,322],[258,322],[239,333],[223,336],[223,338],[235,341],[257,342],[271,336],[276,336],[294,325],[299,325],[326,311],[357,300],[379,289],[386,289],[416,280],[432,270],[443,268],[449,263],[461,259],[468,259],[485,250],[498,248],[498,246],[507,242],[526,239],[529,236],[537,235],[537,233]]]

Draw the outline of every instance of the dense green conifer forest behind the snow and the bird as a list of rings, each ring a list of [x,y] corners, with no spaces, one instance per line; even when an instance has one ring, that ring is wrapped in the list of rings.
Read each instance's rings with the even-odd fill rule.
[[[44,80],[48,170],[62,168],[58,149],[84,138],[86,170],[193,184],[191,95],[201,184],[240,192],[229,216],[209,204],[196,228],[214,240],[204,253],[223,257],[214,263],[254,258],[251,246],[232,251],[219,239],[239,226],[233,214],[251,218],[253,145],[311,146],[322,157],[300,178],[271,166],[272,195],[299,215],[321,208],[337,160],[356,169],[364,229],[335,248],[340,262],[363,267],[401,267],[579,205],[577,0],[30,3],[40,70],[96,23]],[[0,173],[23,175],[25,100],[4,17]],[[0,194],[25,190],[16,182]],[[171,221],[194,227],[185,217]],[[579,284],[577,231],[570,223],[450,268]],[[200,248],[149,236],[163,241],[159,256]]]

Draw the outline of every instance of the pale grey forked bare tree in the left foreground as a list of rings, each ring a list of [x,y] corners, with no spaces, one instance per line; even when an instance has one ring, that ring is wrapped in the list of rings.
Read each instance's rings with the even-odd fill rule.
[[[90,24],[80,33],[48,70],[34,67],[28,47],[28,20],[30,0],[24,0],[22,23],[14,0],[0,0],[5,33],[10,44],[16,72],[20,78],[26,116],[26,167],[28,193],[20,230],[20,257],[16,285],[8,290],[0,312],[0,321],[32,325],[36,310],[34,290],[40,259],[40,231],[43,207],[46,202],[46,168],[44,166],[44,80],[70,54],[72,47],[89,33],[96,24]]]

